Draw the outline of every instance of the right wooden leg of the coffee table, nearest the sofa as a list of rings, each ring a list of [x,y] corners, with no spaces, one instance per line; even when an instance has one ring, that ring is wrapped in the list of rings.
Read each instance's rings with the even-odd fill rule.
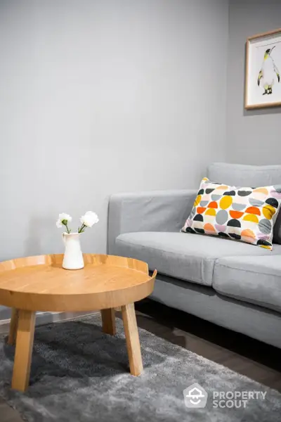
[[[127,350],[131,375],[138,376],[143,371],[141,359],[141,345],[138,338],[138,326],[136,324],[135,306],[133,303],[122,306],[122,318],[126,335]]]

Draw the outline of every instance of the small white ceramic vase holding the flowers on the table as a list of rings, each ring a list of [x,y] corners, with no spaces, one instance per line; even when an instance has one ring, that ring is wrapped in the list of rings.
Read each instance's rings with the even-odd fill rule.
[[[84,260],[80,245],[79,233],[63,233],[65,243],[65,255],[63,257],[63,268],[81,269],[84,268]]]

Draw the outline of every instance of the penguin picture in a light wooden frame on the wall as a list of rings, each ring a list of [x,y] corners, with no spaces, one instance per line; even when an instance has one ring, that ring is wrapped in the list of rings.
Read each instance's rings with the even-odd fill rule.
[[[281,29],[247,39],[244,106],[281,106]]]

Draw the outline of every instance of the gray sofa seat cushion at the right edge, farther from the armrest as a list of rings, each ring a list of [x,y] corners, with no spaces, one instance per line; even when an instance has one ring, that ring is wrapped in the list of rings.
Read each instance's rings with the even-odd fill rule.
[[[230,298],[281,311],[281,253],[220,258],[213,288]]]

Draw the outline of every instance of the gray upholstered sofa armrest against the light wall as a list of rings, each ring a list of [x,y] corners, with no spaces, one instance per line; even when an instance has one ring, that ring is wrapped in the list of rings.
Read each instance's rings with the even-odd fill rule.
[[[107,250],[114,253],[119,234],[133,231],[180,231],[196,190],[117,193],[109,200]]]

